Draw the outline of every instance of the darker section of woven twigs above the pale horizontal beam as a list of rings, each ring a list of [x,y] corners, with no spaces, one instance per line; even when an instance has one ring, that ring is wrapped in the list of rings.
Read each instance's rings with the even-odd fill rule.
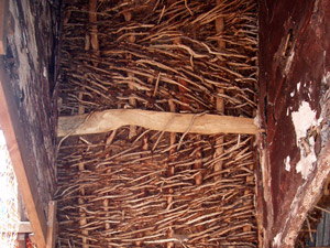
[[[255,1],[98,1],[95,22],[88,1],[75,2],[64,18],[61,115],[79,106],[168,111],[168,100],[177,111],[217,112],[220,97],[226,114],[253,116]]]

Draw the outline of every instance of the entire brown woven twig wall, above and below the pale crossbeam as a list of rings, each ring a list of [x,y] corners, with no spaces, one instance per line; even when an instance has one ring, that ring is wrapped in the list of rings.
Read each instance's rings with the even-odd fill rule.
[[[254,0],[79,0],[65,11],[61,115],[254,116]],[[58,247],[256,247],[252,143],[135,126],[67,139]]]

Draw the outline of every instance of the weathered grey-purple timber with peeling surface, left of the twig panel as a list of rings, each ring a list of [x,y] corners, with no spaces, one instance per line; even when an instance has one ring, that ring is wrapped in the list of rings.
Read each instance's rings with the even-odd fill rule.
[[[1,69],[7,74],[6,86],[10,90],[6,97],[14,104],[14,121],[22,128],[18,136],[23,140],[19,149],[25,149],[29,155],[31,179],[37,185],[33,194],[38,195],[42,204],[42,209],[37,211],[47,213],[56,184],[54,136],[57,121],[53,115],[56,105],[52,104],[55,95],[52,94],[58,4],[50,1],[35,4],[28,0],[6,2],[7,53],[1,56]]]

